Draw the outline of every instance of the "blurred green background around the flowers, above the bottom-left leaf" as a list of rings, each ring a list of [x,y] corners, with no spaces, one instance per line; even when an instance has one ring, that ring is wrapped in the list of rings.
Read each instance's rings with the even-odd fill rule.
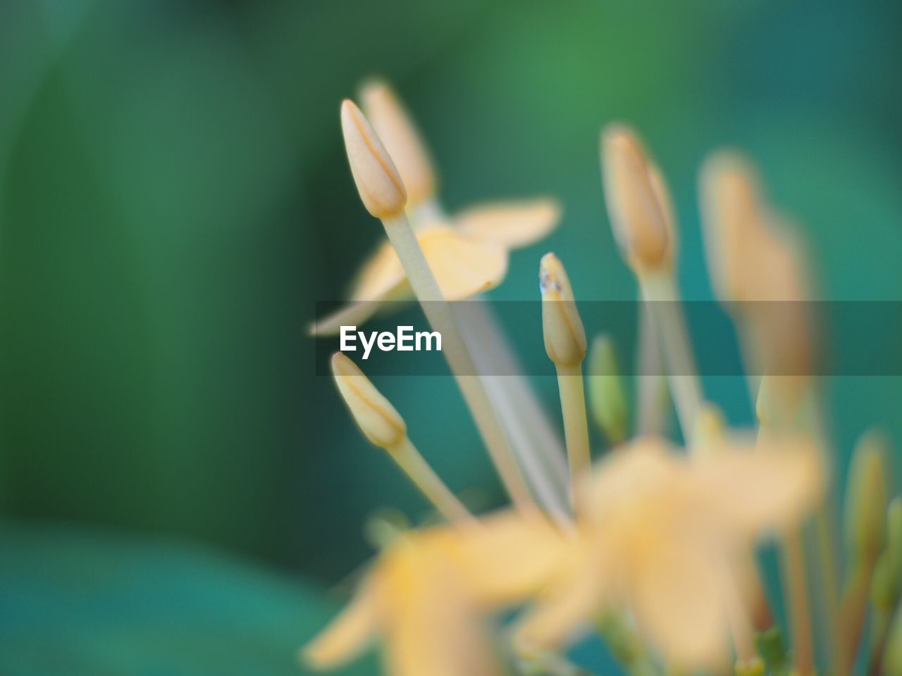
[[[211,546],[324,588],[364,560],[373,509],[424,512],[314,375],[305,333],[381,236],[338,125],[373,74],[419,121],[446,206],[563,202],[562,227],[514,255],[491,297],[537,297],[551,249],[580,297],[635,296],[597,160],[600,126],[626,119],[675,193],[686,297],[710,297],[695,172],[729,143],[796,216],[824,297],[902,298],[900,19],[895,0],[5,0],[10,527]],[[537,380],[555,406],[553,379]],[[453,488],[500,500],[451,379],[379,384]],[[739,379],[706,386],[749,422]],[[870,425],[902,439],[899,379],[827,387],[841,458]]]

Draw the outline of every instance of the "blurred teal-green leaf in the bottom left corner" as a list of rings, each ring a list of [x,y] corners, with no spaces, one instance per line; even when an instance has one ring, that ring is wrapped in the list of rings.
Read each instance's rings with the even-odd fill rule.
[[[0,522],[0,608],[7,676],[299,676],[299,646],[337,604],[195,545]]]

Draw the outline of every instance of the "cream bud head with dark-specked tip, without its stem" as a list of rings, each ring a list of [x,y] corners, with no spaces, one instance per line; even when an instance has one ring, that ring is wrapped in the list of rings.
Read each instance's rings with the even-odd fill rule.
[[[542,292],[542,328],[548,358],[556,366],[577,366],[585,359],[585,329],[576,309],[570,280],[553,253],[542,256],[538,288]]]

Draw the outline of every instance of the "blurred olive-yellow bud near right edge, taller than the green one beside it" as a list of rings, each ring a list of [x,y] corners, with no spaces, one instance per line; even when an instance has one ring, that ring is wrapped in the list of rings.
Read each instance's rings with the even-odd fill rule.
[[[873,562],[883,551],[887,519],[888,443],[878,433],[861,437],[851,459],[845,498],[846,546],[858,562]]]

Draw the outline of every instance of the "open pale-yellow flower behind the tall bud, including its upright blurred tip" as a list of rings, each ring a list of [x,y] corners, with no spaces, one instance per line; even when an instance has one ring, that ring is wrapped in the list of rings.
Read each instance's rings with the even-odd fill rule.
[[[407,189],[410,221],[445,300],[473,297],[501,284],[509,251],[538,242],[557,225],[560,207],[545,197],[491,202],[446,215],[438,203],[432,160],[391,88],[370,82],[361,97]],[[382,303],[410,297],[398,255],[390,242],[382,242],[357,273],[348,303],[315,323],[311,333],[334,335],[343,324],[363,324]]]

